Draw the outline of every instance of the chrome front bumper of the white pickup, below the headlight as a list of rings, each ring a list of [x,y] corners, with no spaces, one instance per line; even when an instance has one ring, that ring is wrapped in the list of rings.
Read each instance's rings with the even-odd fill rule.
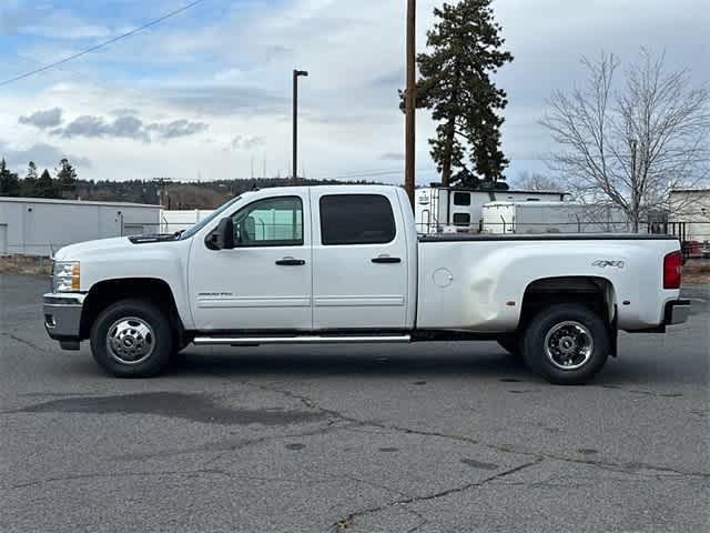
[[[85,294],[48,293],[43,296],[44,329],[67,350],[78,350]]]

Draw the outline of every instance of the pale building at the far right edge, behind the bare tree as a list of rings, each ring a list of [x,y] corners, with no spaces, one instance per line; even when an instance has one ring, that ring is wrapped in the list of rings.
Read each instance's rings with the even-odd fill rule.
[[[686,241],[710,241],[710,188],[673,189],[670,192],[670,222]]]

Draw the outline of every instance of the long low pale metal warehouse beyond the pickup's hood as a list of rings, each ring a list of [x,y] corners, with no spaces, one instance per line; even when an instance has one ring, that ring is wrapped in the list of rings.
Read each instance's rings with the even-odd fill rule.
[[[160,205],[0,198],[0,254],[50,255],[67,244],[155,233]]]

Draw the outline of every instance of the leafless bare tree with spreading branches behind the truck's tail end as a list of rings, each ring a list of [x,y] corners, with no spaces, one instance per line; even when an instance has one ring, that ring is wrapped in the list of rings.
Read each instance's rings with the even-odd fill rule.
[[[646,214],[668,210],[672,189],[707,179],[710,91],[646,49],[619,90],[613,54],[581,62],[586,84],[554,92],[540,121],[560,144],[550,167],[579,200],[620,207],[638,231]]]

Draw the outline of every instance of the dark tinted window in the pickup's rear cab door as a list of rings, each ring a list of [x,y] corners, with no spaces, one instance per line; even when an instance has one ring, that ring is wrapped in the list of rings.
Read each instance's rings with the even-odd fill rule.
[[[382,194],[326,194],[321,197],[323,245],[386,244],[396,235],[395,217]]]

